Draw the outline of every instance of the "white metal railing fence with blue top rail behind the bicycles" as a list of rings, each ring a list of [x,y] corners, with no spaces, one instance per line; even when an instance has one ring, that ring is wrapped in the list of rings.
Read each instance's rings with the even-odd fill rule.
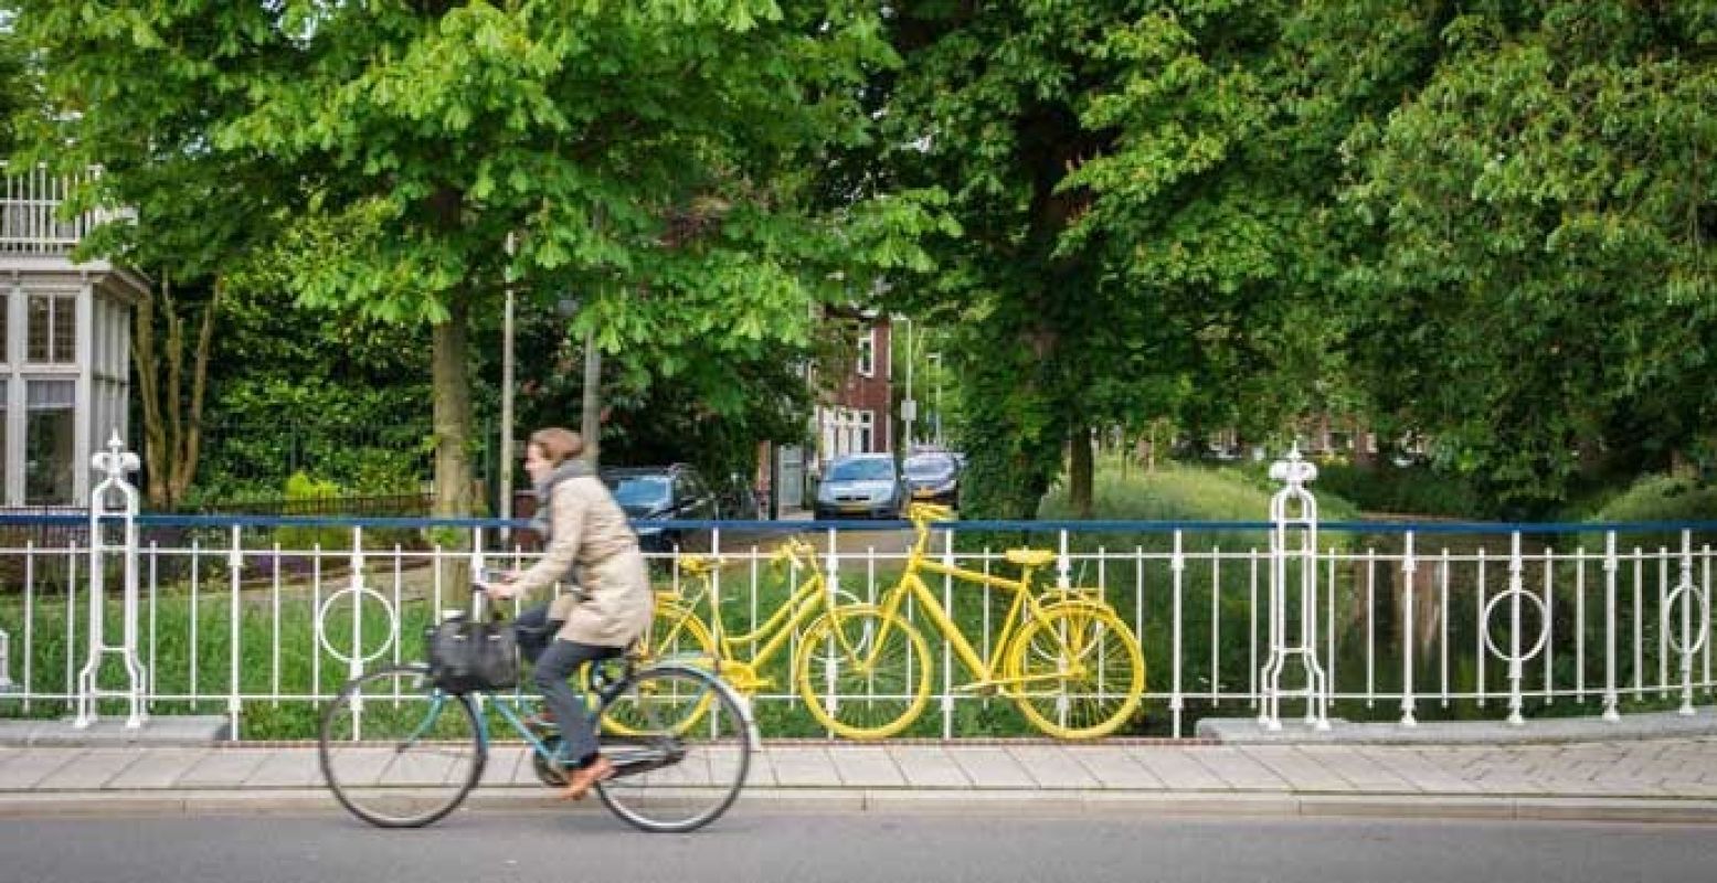
[[[100,584],[91,567],[106,569],[110,586],[124,584],[124,569],[113,557],[91,558],[77,524],[88,522],[0,517],[0,538],[70,531],[53,543],[0,541],[0,684],[10,680],[0,687],[0,716],[70,709],[91,658],[89,612],[124,622],[118,596],[91,606]],[[469,605],[465,574],[479,558],[532,560],[496,551],[494,538],[510,526],[493,521],[143,515],[137,526],[137,691],[151,713],[225,713],[247,739],[309,737],[316,703],[343,679],[414,660],[421,630],[440,612]],[[771,541],[738,546],[731,536],[735,527],[757,536],[783,524],[701,527],[728,562],[726,629],[754,629],[804,574],[773,569]],[[1429,718],[1530,727],[1526,718],[1544,715],[1693,713],[1712,694],[1717,522],[1320,524],[1308,548],[1272,545],[1276,527],[955,522],[936,550],[943,560],[1008,572],[1004,546],[1053,548],[1049,581],[1097,588],[1145,649],[1145,715],[1126,730],[1135,735],[1188,735],[1207,715],[1255,715],[1271,725],[1272,697],[1288,713],[1305,706],[1314,723],[1329,703],[1334,716],[1405,727]],[[812,529],[817,567],[843,594],[874,600],[905,562],[862,545],[876,534]],[[450,531],[486,551],[426,546],[426,536]],[[1276,567],[1284,562],[1291,567]],[[671,557],[658,565],[663,586],[682,579]],[[987,655],[1004,598],[953,579],[941,579],[939,593]],[[941,663],[939,701],[913,734],[1010,732],[989,715],[1006,699],[962,691],[970,677],[934,630],[925,636]],[[124,694],[112,687],[127,677],[122,665],[105,660],[93,675],[89,684]],[[797,723],[771,732],[769,722],[792,722],[798,704],[786,679],[755,703],[766,735],[809,735]],[[113,699],[103,708],[112,713]]]

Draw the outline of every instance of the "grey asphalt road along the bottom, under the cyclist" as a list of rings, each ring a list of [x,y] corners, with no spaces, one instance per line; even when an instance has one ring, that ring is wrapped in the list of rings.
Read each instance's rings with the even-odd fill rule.
[[[1717,830],[1403,819],[1128,819],[1010,811],[786,814],[694,835],[599,809],[465,813],[419,831],[343,814],[0,821],[3,883],[1696,881]]]

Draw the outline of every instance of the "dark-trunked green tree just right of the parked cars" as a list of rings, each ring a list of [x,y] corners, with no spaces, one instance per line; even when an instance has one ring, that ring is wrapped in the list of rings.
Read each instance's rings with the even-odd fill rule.
[[[1090,429],[1277,431],[1329,371],[1319,278],[1339,136],[1286,137],[1291,3],[908,3],[884,77],[898,180],[951,194],[944,271],[896,301],[962,326],[970,505],[1030,515]]]

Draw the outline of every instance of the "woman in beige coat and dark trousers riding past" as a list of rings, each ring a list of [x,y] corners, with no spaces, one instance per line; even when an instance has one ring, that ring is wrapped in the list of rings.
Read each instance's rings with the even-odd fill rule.
[[[568,677],[585,663],[622,655],[649,627],[652,605],[637,534],[582,454],[579,433],[561,428],[531,433],[525,472],[536,484],[537,512],[546,515],[539,524],[544,553],[531,569],[486,588],[491,598],[515,598],[570,584],[577,569],[579,591],[561,594],[548,610],[548,620],[561,625],[532,675],[567,742],[572,773],[561,797],[568,801],[582,799],[591,785],[613,775]]]

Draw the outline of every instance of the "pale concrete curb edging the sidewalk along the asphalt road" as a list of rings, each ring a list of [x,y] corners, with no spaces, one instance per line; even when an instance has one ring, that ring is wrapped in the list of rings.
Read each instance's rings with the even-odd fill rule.
[[[604,813],[539,789],[488,787],[465,811]],[[747,789],[735,813],[996,813],[1128,818],[1415,818],[1717,825],[1717,801],[1655,797],[1520,797],[1466,794],[1236,794],[1121,790]],[[204,816],[340,813],[323,789],[76,790],[0,794],[0,818]]]

